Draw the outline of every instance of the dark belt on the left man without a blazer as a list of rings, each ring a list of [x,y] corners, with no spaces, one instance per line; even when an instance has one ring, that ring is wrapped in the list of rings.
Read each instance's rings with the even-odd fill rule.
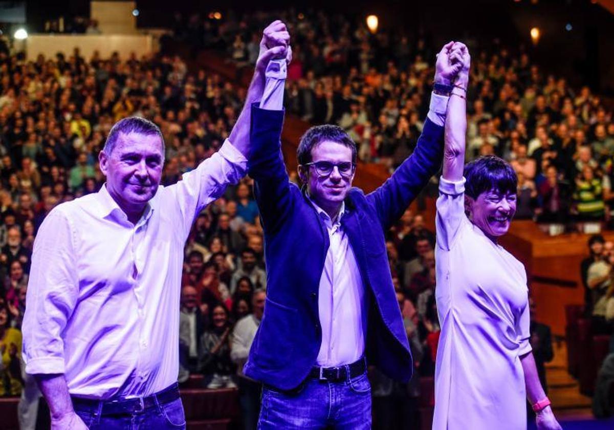
[[[71,396],[71,399],[75,408],[86,408],[94,413],[100,410],[101,415],[132,415],[155,407],[157,404],[176,401],[179,399],[179,385],[174,383],[151,396],[134,399],[95,400],[77,396]]]

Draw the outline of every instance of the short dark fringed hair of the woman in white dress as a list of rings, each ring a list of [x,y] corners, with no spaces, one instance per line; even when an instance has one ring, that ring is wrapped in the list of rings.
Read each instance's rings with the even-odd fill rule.
[[[485,155],[467,163],[464,176],[465,194],[472,198],[493,189],[500,193],[516,193],[518,186],[514,169],[495,155]]]

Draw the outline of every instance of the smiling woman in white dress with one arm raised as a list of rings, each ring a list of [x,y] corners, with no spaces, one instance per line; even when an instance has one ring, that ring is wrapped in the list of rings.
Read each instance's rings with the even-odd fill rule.
[[[526,429],[526,399],[538,429],[560,429],[535,369],[523,264],[497,239],[516,210],[516,174],[498,157],[464,166],[470,57],[448,102],[437,200],[437,309],[441,336],[435,368],[435,430]]]

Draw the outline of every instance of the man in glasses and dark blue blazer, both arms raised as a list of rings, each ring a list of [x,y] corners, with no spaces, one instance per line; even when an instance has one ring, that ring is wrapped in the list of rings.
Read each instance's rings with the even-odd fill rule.
[[[435,90],[444,94],[456,70],[451,45],[441,50],[435,73]],[[274,92],[269,85],[267,75],[265,95]],[[252,105],[248,169],[268,291],[244,373],[264,383],[258,428],[368,429],[367,361],[392,378],[411,378],[384,232],[440,168],[447,101],[432,95],[415,151],[367,195],[351,187],[356,144],[333,125],[306,131],[298,147],[305,186],[289,182],[280,143],[284,112]]]

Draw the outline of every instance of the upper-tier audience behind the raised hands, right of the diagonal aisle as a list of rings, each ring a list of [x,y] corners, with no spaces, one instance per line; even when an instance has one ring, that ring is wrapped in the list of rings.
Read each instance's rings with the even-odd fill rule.
[[[251,14],[223,22],[176,16],[177,37],[221,47],[253,64],[263,23],[282,17],[292,34],[286,109],[338,123],[365,162],[391,171],[411,154],[428,111],[435,52],[397,28],[371,34],[362,17],[325,12]],[[351,15],[350,15],[351,16]],[[495,154],[518,173],[518,218],[606,221],[614,209],[614,122],[602,98],[545,73],[523,46],[478,46],[468,88],[467,160]]]

